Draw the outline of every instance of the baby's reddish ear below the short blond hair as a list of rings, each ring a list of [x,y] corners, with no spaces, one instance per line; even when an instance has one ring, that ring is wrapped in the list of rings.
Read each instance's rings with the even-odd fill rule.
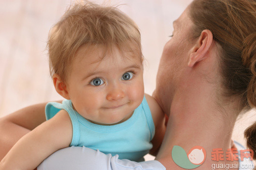
[[[67,91],[66,85],[63,83],[61,76],[59,74],[54,74],[53,75],[53,81],[54,81],[54,87],[55,90],[65,99],[70,100],[69,98],[69,93]]]

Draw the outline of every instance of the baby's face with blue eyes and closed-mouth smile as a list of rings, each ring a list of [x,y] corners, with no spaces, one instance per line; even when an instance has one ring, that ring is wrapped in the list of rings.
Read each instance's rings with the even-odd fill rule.
[[[101,59],[103,53],[100,45],[78,49],[67,91],[80,115],[96,124],[112,125],[129,119],[142,102],[143,67],[134,52],[122,56],[115,48]]]

